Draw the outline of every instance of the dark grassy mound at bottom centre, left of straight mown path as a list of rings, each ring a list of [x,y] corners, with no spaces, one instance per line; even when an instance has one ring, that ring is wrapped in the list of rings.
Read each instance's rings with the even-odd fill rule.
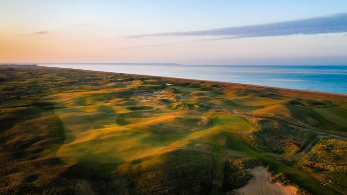
[[[212,169],[212,155],[189,150],[175,150],[120,168],[131,195],[206,195]]]

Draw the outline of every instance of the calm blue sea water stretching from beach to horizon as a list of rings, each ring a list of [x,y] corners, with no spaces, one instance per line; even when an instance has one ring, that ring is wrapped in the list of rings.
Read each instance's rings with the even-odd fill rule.
[[[347,94],[347,66],[148,65],[41,63],[116,73],[193,78]]]

